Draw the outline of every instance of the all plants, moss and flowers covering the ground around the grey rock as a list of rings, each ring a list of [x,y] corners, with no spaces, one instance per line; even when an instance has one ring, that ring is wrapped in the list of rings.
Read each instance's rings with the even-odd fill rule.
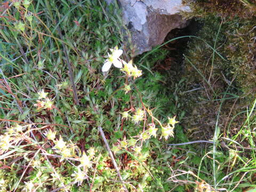
[[[133,58],[117,4],[2,2],[0,191],[255,190],[255,3],[190,3],[172,75],[164,46]],[[190,140],[211,142],[168,146]]]

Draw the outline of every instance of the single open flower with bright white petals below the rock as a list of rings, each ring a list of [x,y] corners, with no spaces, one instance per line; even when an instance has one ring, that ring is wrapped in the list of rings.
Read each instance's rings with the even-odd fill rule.
[[[110,51],[112,53],[108,53],[108,59],[102,66],[102,72],[108,71],[112,64],[117,68],[123,67],[122,62],[119,59],[119,57],[123,54],[123,50],[118,50],[118,47],[116,46],[114,49],[110,49]]]

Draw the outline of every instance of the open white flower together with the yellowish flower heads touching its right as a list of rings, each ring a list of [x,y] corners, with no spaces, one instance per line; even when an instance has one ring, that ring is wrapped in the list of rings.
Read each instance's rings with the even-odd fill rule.
[[[119,50],[116,46],[114,49],[110,49],[110,51],[111,54],[108,53],[108,59],[102,66],[102,72],[108,71],[113,64],[117,68],[122,68],[121,70],[124,71],[128,77],[133,77],[135,79],[142,75],[142,71],[139,70],[137,66],[133,66],[132,60],[126,63],[119,58],[123,54],[123,50]]]

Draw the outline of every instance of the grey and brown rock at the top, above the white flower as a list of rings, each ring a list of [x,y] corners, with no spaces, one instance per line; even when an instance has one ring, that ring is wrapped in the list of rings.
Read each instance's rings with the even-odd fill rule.
[[[108,3],[114,0],[106,0]],[[119,0],[123,20],[131,31],[136,54],[150,51],[164,42],[166,35],[175,28],[184,28],[188,21],[179,12],[190,11],[182,0]]]

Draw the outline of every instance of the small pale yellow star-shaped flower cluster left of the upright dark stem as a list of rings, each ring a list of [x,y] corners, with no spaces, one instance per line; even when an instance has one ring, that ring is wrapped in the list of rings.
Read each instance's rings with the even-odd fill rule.
[[[38,91],[38,100],[36,101],[37,103],[34,104],[34,106],[37,107],[37,109],[47,109],[51,110],[53,108],[53,101],[52,99],[47,98],[46,92],[44,90]]]

